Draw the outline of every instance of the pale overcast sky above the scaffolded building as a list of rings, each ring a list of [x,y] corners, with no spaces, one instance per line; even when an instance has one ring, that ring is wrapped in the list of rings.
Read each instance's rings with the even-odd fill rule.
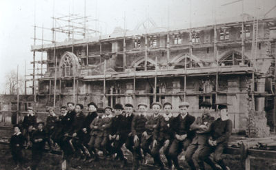
[[[147,17],[152,18],[158,27],[188,24],[190,14],[193,23],[214,21],[214,14],[218,21],[237,19],[242,14],[241,2],[221,6],[232,1],[235,0],[192,0],[190,6],[190,0],[86,0],[86,15],[99,19],[97,29],[106,34],[115,27],[124,28],[124,16],[128,30],[133,30]],[[84,0],[56,0],[55,10],[53,4],[54,0],[0,0],[0,94],[4,91],[5,75],[10,70],[17,70],[17,65],[21,76],[24,75],[25,61],[28,72],[31,72],[30,45],[33,44],[34,23],[52,28],[53,14],[56,17],[69,13],[84,14]],[[255,14],[255,6],[259,7],[259,17],[262,17],[276,6],[276,1],[244,0],[244,13]],[[272,10],[267,17],[276,17],[276,10]],[[90,23],[89,28],[96,27]],[[50,32],[45,31],[43,35],[44,39],[52,38]],[[37,36],[41,38],[41,32],[38,31]]]

